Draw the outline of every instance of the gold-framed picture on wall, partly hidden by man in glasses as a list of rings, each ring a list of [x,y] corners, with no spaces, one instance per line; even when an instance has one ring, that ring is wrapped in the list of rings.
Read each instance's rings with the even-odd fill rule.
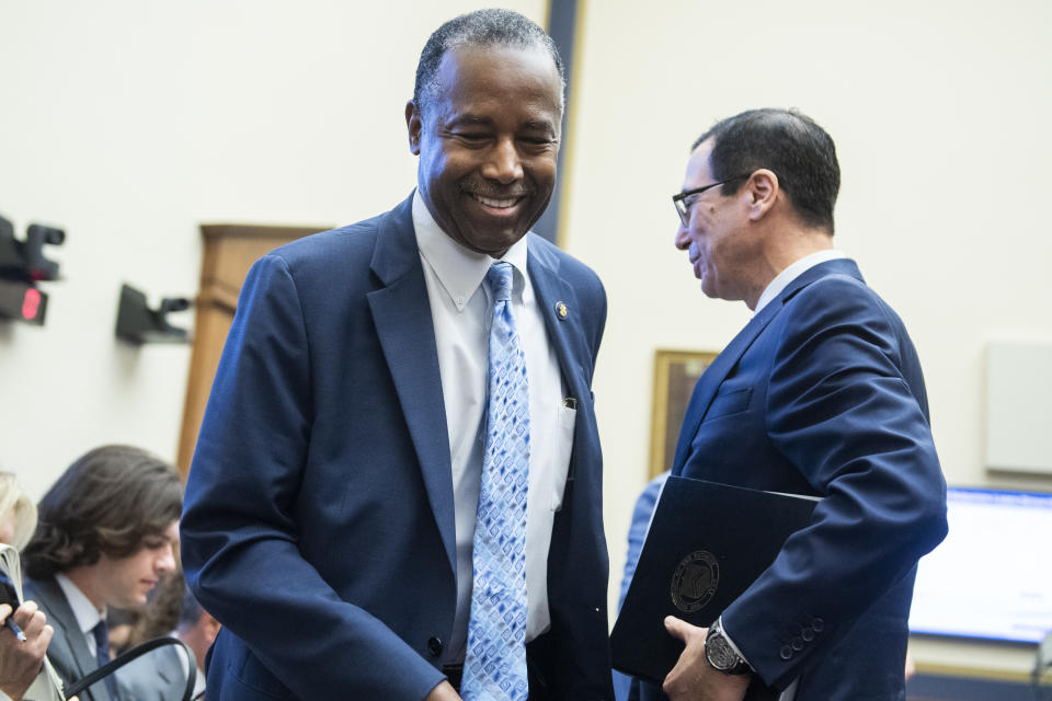
[[[654,352],[654,403],[650,424],[650,476],[672,467],[679,426],[698,378],[717,354],[707,350]]]

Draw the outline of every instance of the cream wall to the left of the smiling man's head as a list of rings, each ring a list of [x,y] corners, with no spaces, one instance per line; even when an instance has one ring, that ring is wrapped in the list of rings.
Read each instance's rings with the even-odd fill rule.
[[[507,4],[546,22],[544,0]],[[0,469],[39,496],[103,443],[174,459],[190,348],[118,343],[121,283],[193,295],[202,222],[332,226],[400,202],[420,51],[480,5],[0,0],[0,215],[19,237],[67,231],[46,326],[0,324]]]

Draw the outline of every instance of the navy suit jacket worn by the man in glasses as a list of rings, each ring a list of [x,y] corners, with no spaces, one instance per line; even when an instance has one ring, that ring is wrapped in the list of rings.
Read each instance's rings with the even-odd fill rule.
[[[724,627],[766,682],[800,677],[797,701],[905,698],[946,483],[913,343],[854,262],[803,273],[705,371],[673,474],[824,497]]]

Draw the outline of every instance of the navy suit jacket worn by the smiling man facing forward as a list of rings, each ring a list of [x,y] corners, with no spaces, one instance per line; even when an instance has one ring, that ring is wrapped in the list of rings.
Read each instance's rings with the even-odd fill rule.
[[[453,482],[410,203],[277,249],[244,283],[182,519],[187,582],[224,624],[209,701],[415,701],[443,679]],[[592,271],[530,237],[529,276],[578,400],[548,560],[551,630],[530,665],[550,698],[608,699],[590,389],[606,297]]]

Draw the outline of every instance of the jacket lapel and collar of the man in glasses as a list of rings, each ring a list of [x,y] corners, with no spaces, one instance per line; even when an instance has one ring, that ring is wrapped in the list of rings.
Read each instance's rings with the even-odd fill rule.
[[[737,364],[742,354],[753,344],[756,336],[767,327],[767,324],[778,315],[778,312],[781,311],[786,302],[792,299],[797,292],[822,277],[837,274],[849,275],[859,281],[865,281],[862,280],[861,273],[858,271],[858,266],[854,261],[848,258],[836,258],[808,268],[786,285],[786,288],[781,290],[775,299],[770,300],[758,314],[753,317],[745,327],[734,336],[733,341],[728,344],[727,348],[717,356],[712,365],[706,368],[705,372],[701,374],[701,379],[698,380],[698,383],[694,388],[694,394],[690,397],[690,403],[687,405],[687,413],[683,420],[683,427],[679,429],[679,439],[676,441],[676,456],[672,461],[673,474],[679,474],[679,471],[683,469],[683,463],[688,456],[690,443],[694,440],[694,436],[698,432],[698,426],[701,424],[701,418],[709,409],[709,404],[712,403],[712,398],[716,397],[720,384],[723,383],[728,374]]]

